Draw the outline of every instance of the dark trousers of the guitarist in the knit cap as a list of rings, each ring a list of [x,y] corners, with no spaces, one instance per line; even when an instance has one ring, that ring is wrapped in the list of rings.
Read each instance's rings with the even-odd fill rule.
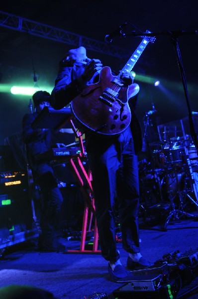
[[[96,218],[101,253],[107,261],[119,259],[115,240],[115,198],[123,248],[139,249],[138,161],[130,128],[117,137],[87,136],[88,159],[93,176]]]

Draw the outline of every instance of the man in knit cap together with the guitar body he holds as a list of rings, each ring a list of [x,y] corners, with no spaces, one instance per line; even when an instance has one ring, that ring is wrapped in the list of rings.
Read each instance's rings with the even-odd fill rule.
[[[135,115],[138,91],[129,71],[113,76],[109,67],[102,67],[99,59],[89,59],[86,49],[79,47],[62,61],[51,94],[54,109],[71,103],[85,133],[101,254],[116,282],[126,282],[129,275],[116,249],[116,217],[123,249],[128,252],[127,269],[150,265],[139,247],[137,152],[142,141]]]

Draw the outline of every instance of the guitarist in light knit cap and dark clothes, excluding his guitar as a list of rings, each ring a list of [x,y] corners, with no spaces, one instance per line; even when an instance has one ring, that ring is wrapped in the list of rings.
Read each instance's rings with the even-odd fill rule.
[[[94,83],[101,80],[99,75],[101,70],[101,61],[89,59],[84,47],[71,49],[60,64],[51,94],[52,107],[61,109],[80,95],[88,85],[94,86]],[[122,73],[119,80],[126,88],[133,84],[133,77],[128,72]],[[86,100],[89,99],[84,101]],[[93,176],[101,254],[108,261],[111,279],[118,282],[127,277],[129,272],[121,265],[119,251],[116,249],[116,207],[122,232],[122,245],[128,252],[128,270],[150,265],[150,262],[142,257],[139,246],[137,152],[141,150],[142,142],[141,130],[134,113],[136,103],[137,95],[129,101],[131,124],[120,134],[103,137],[84,128],[86,151]],[[91,111],[87,113],[92,122],[95,116]]]

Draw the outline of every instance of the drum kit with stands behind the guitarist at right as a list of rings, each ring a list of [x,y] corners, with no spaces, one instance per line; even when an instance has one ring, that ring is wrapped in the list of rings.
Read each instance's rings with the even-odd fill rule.
[[[155,211],[166,231],[171,220],[197,217],[190,212],[198,210],[198,152],[183,137],[147,145],[147,158],[139,160],[140,206],[146,217]]]

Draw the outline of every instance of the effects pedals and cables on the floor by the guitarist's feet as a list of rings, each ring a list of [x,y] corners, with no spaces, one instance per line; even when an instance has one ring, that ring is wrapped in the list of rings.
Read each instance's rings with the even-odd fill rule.
[[[116,299],[176,299],[198,274],[198,248],[174,251],[153,266],[131,271],[131,281],[113,292]]]

